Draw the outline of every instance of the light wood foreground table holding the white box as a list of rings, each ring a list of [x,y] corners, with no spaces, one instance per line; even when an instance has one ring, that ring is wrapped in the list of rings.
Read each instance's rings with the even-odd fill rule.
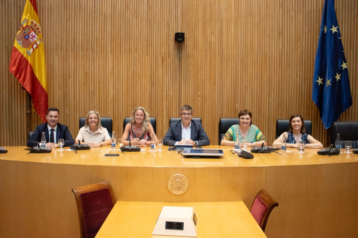
[[[163,206],[194,207],[198,237],[266,237],[243,202],[122,202],[118,201],[96,238],[178,237],[152,235]]]

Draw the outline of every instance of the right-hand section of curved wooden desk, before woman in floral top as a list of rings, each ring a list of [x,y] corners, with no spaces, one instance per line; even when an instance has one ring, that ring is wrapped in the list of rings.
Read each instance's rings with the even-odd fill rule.
[[[262,156],[266,190],[279,203],[268,237],[354,237],[358,234],[358,155],[321,156],[316,149]],[[281,165],[279,165],[281,164]]]

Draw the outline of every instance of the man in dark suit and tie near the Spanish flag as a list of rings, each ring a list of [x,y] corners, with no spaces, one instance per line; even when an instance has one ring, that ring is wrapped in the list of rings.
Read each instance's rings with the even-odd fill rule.
[[[46,147],[54,149],[58,147],[58,139],[64,139],[64,147],[72,145],[74,140],[66,125],[58,123],[60,113],[57,108],[50,108],[47,110],[46,120],[47,123],[38,125],[34,134],[27,142],[28,147],[37,146],[41,142],[42,133],[45,133]]]

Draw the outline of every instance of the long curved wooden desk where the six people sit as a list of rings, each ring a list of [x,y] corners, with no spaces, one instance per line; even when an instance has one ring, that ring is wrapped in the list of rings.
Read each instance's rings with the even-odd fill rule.
[[[246,160],[222,148],[222,159],[187,159],[177,152],[110,151],[110,147],[28,154],[7,147],[0,154],[0,237],[79,237],[71,188],[110,181],[116,200],[138,202],[231,202],[248,208],[265,188],[279,202],[270,215],[270,237],[354,236],[358,214],[358,155],[254,154]],[[119,157],[104,157],[119,153]],[[173,174],[189,182],[184,194],[166,187]]]

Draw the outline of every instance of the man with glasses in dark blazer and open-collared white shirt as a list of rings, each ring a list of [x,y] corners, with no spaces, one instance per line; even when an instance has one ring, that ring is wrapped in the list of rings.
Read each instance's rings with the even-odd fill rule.
[[[171,145],[209,145],[210,140],[202,124],[192,120],[192,107],[189,105],[182,106],[180,115],[182,116],[182,120],[169,125],[168,132],[166,132],[163,138],[163,144],[169,145],[169,142],[171,142]]]

